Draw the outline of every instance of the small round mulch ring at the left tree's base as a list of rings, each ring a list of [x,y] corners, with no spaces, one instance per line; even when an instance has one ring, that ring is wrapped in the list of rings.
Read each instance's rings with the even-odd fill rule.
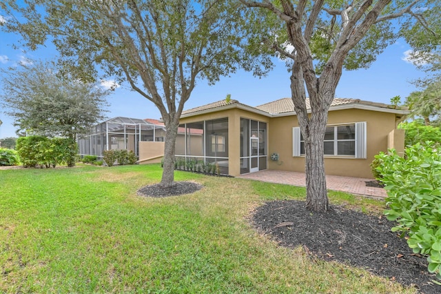
[[[201,190],[202,185],[194,182],[174,182],[170,188],[164,188],[161,184],[154,184],[140,188],[137,192],[145,197],[170,197],[184,194],[191,194]]]

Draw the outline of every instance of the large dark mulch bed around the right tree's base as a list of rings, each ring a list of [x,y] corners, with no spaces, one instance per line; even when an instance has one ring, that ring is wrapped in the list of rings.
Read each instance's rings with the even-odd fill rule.
[[[405,239],[391,232],[385,217],[332,207],[327,213],[311,213],[305,202],[267,202],[257,208],[252,222],[281,246],[303,246],[308,253],[366,268],[404,285],[415,284],[421,293],[441,293],[441,286],[427,271],[425,257],[415,255]]]

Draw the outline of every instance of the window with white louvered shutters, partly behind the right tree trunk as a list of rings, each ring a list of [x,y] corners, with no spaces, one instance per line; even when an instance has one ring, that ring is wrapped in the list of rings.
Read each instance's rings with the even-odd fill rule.
[[[366,158],[366,122],[327,126],[324,155]],[[293,128],[293,156],[305,155],[305,141],[300,128]]]

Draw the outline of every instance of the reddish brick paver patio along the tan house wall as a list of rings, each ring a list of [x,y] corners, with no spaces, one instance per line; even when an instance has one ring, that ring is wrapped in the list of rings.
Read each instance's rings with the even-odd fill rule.
[[[260,170],[256,173],[240,175],[243,179],[254,179],[256,181],[270,182],[277,184],[287,184],[292,186],[306,186],[305,173],[297,173],[283,170]],[[383,188],[368,187],[366,182],[373,179],[360,177],[340,177],[337,175],[327,175],[326,185],[328,190],[342,191],[354,195],[367,196],[373,198],[384,198],[387,196]]]

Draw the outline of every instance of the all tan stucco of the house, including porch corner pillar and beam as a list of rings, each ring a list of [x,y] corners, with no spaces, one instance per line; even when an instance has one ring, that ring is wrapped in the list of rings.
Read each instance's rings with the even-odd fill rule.
[[[298,126],[295,116],[265,117],[237,108],[197,115],[181,119],[180,123],[192,123],[210,119],[228,118],[229,140],[229,175],[240,175],[240,118],[254,119],[267,123],[267,155],[278,153],[278,162],[268,160],[271,170],[305,171],[305,158],[292,156],[292,128]],[[404,150],[404,134],[396,130],[396,115],[388,112],[371,110],[334,110],[329,112],[329,125],[351,124],[359,121],[367,122],[367,159],[344,157],[325,157],[327,175],[343,175],[350,177],[372,178],[369,164],[380,151],[387,151],[393,144],[398,152]],[[392,133],[391,133],[392,132]]]

